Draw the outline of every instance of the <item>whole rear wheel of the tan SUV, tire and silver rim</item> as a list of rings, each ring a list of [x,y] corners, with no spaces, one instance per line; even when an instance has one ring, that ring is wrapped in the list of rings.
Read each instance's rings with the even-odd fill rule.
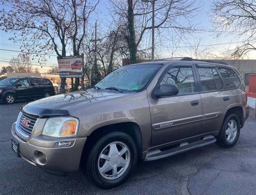
[[[228,115],[221,127],[216,144],[221,147],[233,147],[238,141],[240,134],[240,120],[235,114]]]

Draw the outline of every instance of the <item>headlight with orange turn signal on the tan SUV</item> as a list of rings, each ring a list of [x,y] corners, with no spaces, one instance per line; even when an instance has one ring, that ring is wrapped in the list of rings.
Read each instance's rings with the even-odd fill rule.
[[[52,117],[43,127],[43,135],[50,137],[74,137],[78,132],[79,121],[74,117]]]

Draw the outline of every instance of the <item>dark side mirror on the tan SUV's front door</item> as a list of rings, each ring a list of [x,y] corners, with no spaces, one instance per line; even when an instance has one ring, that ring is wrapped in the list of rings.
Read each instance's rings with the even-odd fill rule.
[[[162,96],[172,96],[177,95],[179,93],[179,88],[177,85],[161,85],[158,89],[155,88],[153,91],[153,98],[159,98]]]

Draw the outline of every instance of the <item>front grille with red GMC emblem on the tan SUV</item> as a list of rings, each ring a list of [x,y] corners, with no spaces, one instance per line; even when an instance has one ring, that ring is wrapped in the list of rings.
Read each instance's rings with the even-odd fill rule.
[[[32,130],[35,126],[35,122],[37,121],[36,116],[31,116],[25,113],[22,113],[20,117],[20,130],[28,135],[28,137],[31,135]]]

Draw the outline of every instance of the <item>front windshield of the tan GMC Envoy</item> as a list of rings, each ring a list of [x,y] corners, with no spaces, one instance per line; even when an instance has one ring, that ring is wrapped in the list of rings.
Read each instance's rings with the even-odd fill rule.
[[[124,91],[139,91],[150,81],[160,64],[130,65],[121,67],[103,78],[96,87],[115,87]]]

